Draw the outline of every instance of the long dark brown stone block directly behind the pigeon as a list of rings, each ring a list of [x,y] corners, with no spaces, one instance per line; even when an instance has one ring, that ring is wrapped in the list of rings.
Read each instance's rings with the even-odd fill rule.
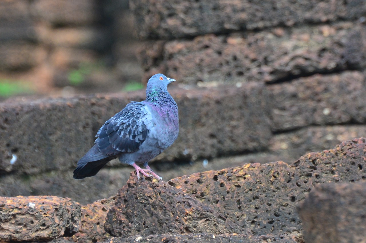
[[[144,93],[1,103],[0,135],[7,139],[0,141],[0,171],[38,174],[74,168],[99,127],[129,101],[145,99]],[[271,133],[262,85],[171,93],[179,107],[180,134],[158,159],[215,157],[267,146]],[[17,159],[11,165],[13,156]]]

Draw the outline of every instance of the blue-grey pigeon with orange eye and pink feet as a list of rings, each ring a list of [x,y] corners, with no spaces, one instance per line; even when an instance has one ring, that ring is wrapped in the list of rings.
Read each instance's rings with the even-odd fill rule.
[[[147,163],[178,137],[178,106],[167,90],[174,81],[160,73],[152,76],[147,82],[146,100],[131,101],[104,123],[94,146],[78,161],[73,177],[96,175],[106,163],[119,158],[135,168],[138,179],[141,173],[161,181]]]

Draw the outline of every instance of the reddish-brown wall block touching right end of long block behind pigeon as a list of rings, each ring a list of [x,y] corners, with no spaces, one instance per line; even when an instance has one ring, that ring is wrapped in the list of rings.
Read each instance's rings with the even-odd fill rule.
[[[314,75],[293,82],[269,85],[271,128],[292,130],[309,125],[365,123],[361,72]]]

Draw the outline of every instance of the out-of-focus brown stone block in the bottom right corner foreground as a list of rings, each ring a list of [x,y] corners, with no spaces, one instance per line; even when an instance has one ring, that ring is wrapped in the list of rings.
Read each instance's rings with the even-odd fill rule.
[[[299,206],[305,241],[364,242],[365,198],[366,182],[315,186]]]

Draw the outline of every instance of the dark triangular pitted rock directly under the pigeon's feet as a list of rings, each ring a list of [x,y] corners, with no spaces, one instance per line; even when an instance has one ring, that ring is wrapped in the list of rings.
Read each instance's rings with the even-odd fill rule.
[[[209,206],[164,181],[137,180],[131,173],[105,220],[112,236],[237,232],[237,227]]]

